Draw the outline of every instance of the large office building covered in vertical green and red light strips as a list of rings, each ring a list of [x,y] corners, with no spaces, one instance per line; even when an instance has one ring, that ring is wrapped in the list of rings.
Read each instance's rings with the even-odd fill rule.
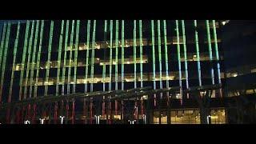
[[[228,123],[225,22],[5,23],[1,121]]]

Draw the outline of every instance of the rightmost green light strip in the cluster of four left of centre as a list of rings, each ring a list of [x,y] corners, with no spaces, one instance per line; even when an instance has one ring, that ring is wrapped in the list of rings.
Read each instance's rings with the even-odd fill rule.
[[[73,84],[73,93],[75,93],[75,84],[77,82],[79,26],[80,26],[80,20],[77,20],[76,37],[75,37],[75,50],[74,50],[74,84]]]

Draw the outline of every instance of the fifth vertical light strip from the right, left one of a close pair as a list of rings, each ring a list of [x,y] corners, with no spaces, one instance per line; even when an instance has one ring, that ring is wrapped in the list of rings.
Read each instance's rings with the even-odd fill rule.
[[[176,34],[177,34],[177,49],[178,49],[178,81],[179,81],[179,86],[180,86],[180,94],[182,96],[182,68],[181,68],[181,50],[179,46],[179,30],[178,30],[178,20],[176,22]]]

